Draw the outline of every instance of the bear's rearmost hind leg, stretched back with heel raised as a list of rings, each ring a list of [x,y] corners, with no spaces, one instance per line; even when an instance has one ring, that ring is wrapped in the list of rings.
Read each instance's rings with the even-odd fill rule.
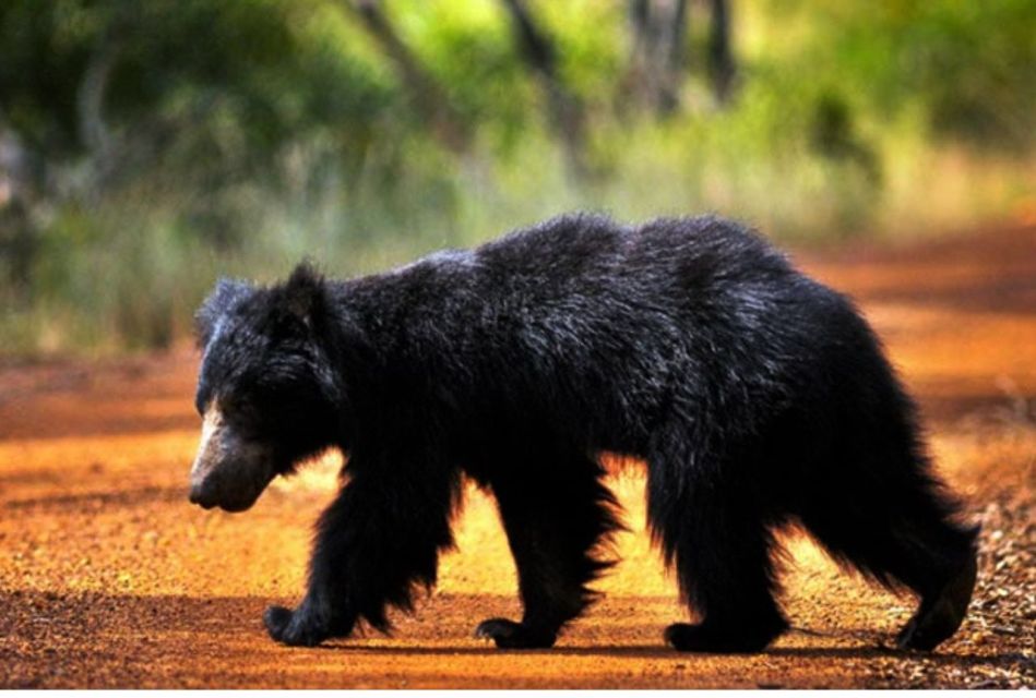
[[[897,645],[930,650],[964,621],[978,530],[958,521],[961,504],[932,473],[913,401],[871,333],[855,324],[842,349],[856,350],[818,384],[824,408],[809,419],[823,423],[830,445],[802,458],[788,508],[839,562],[917,593]]]

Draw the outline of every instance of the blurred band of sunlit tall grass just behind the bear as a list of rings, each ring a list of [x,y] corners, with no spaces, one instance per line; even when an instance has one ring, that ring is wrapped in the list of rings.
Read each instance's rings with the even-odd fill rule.
[[[37,298],[0,320],[4,352],[167,346],[189,334],[193,309],[217,276],[272,281],[303,257],[336,277],[376,273],[575,208],[622,220],[717,212],[799,246],[865,233],[904,241],[1024,219],[1034,208],[1032,165],[904,139],[888,146],[882,191],[869,190],[850,168],[803,152],[742,155],[707,130],[691,139],[700,151],[672,141],[652,130],[627,136],[612,144],[610,174],[585,185],[565,178],[559,154],[541,141],[508,163],[457,167],[449,172],[451,194],[441,205],[392,215],[383,213],[391,201],[358,196],[341,183],[305,202],[257,195],[248,205],[254,227],[227,250],[184,234],[175,193],[162,206],[151,200],[128,205],[124,197],[104,202],[88,214],[88,225],[103,232],[74,252],[46,257]],[[83,220],[56,225],[74,230]],[[58,243],[70,244],[68,236]]]

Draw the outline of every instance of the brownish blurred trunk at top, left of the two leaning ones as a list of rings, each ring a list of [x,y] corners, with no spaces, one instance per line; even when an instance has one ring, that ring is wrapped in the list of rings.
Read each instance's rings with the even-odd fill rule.
[[[396,34],[381,1],[345,0],[344,4],[360,19],[367,32],[395,64],[400,80],[436,137],[454,153],[465,153],[471,145],[467,128],[439,83],[425,71],[417,57]]]

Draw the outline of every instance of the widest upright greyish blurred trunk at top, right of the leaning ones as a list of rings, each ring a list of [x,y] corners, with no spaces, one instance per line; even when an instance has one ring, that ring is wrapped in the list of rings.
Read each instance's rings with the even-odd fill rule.
[[[629,17],[632,45],[623,93],[658,116],[672,113],[684,77],[687,0],[630,0]]]

